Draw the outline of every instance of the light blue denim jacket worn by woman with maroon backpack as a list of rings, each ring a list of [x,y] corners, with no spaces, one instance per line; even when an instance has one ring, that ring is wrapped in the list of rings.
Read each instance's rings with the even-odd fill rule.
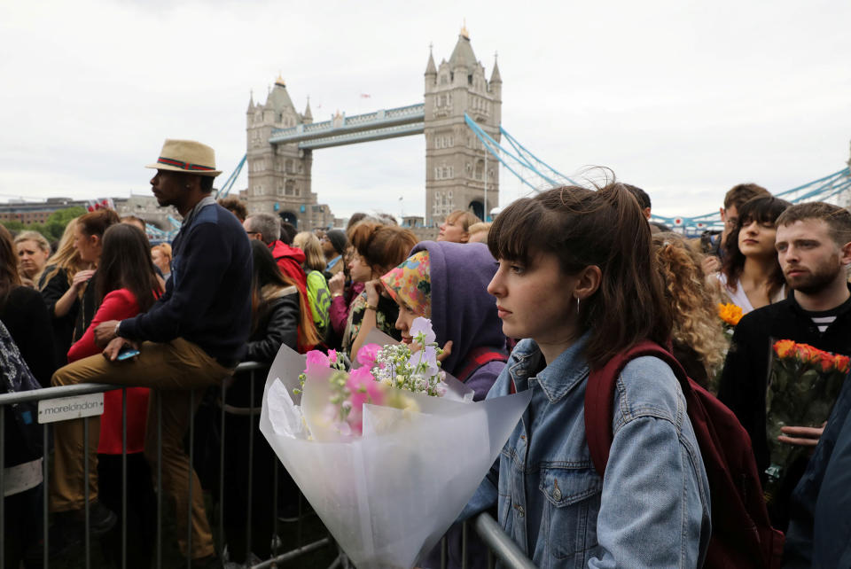
[[[543,369],[522,340],[488,398],[532,401],[461,518],[496,504],[499,524],[539,567],[699,567],[710,535],[709,487],[674,373],[629,362],[614,395],[614,440],[601,479],[585,438],[587,335]]]

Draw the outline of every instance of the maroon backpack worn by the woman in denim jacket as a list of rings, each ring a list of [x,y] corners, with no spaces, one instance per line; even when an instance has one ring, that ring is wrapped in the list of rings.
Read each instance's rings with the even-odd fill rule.
[[[688,378],[673,355],[649,340],[590,372],[585,389],[585,432],[597,472],[600,476],[605,472],[612,446],[617,378],[630,360],[644,355],[666,362],[679,379],[703,456],[712,501],[712,537],[705,566],[779,567],[785,537],[771,527],[745,428],[721,401]]]

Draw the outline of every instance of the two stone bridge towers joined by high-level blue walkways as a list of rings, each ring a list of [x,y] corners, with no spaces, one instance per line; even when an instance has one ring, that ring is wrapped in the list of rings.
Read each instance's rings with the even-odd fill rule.
[[[435,65],[429,51],[424,84],[422,103],[348,117],[337,113],[330,121],[314,122],[309,101],[303,112],[296,111],[286,83],[278,77],[265,103],[251,97],[246,110],[248,188],[240,197],[250,211],[277,213],[299,229],[330,226],[331,209],[319,203],[311,185],[313,151],[424,135],[426,225],[443,221],[456,209],[484,218],[487,205],[499,202],[499,163],[486,156],[488,147],[466,121],[475,121],[498,143],[503,84],[499,67],[495,61],[486,77],[462,28],[448,60]]]

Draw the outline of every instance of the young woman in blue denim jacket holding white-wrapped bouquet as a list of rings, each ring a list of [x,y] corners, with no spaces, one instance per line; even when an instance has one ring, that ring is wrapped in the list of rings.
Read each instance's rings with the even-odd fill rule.
[[[621,372],[603,477],[585,432],[589,370],[671,335],[636,200],[620,183],[518,199],[496,218],[488,247],[504,334],[524,338],[488,399],[531,391],[532,401],[462,518],[496,506],[537,566],[702,565],[707,474],[668,365],[645,356]]]

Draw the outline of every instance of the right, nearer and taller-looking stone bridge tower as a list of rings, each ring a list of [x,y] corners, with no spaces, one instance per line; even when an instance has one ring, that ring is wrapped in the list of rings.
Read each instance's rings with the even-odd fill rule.
[[[469,209],[481,219],[499,204],[499,168],[486,156],[464,120],[469,114],[497,142],[502,119],[503,80],[499,67],[488,81],[476,59],[466,27],[461,28],[449,61],[426,65],[426,224],[440,223],[456,209]]]

